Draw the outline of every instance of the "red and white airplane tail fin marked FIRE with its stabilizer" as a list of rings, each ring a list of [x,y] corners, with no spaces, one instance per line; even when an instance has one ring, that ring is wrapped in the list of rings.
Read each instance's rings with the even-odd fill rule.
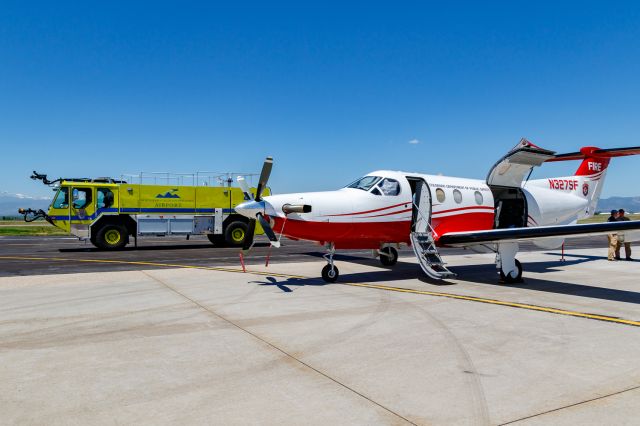
[[[566,183],[574,186],[575,188],[572,189],[575,193],[587,200],[587,209],[578,217],[581,219],[593,216],[596,211],[611,158],[638,154],[640,154],[640,147],[600,149],[586,146],[581,148],[580,152],[559,154],[547,161],[582,160],[573,176],[573,182]],[[562,181],[562,178],[555,181]]]

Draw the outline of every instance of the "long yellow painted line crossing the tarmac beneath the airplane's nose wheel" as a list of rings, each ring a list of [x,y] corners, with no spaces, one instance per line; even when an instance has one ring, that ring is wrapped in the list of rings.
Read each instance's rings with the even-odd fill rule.
[[[165,267],[165,268],[202,269],[207,271],[247,273],[247,274],[254,274],[254,275],[261,275],[261,276],[271,276],[271,277],[291,278],[291,279],[312,279],[313,278],[313,277],[306,277],[302,275],[253,271],[250,269],[247,269],[245,272],[240,268],[223,268],[223,267],[215,267],[215,266],[181,265],[181,264],[173,264],[173,263],[141,262],[141,261],[126,261],[126,260],[112,260],[112,259],[101,260],[101,259],[68,259],[64,257],[58,258],[58,257],[0,256],[0,260],[1,259],[59,260],[59,261],[66,261],[66,262],[114,263],[114,264],[128,264],[128,265],[142,265],[142,266],[157,266],[157,267]],[[589,314],[585,312],[570,311],[567,309],[558,309],[558,308],[552,308],[552,307],[531,305],[527,303],[509,302],[504,300],[488,299],[488,298],[477,297],[477,296],[465,296],[462,294],[442,293],[438,291],[428,291],[428,290],[415,290],[410,288],[392,287],[392,286],[384,286],[384,285],[370,284],[370,283],[341,282],[337,284],[347,285],[351,287],[363,287],[363,288],[371,288],[376,290],[395,291],[399,293],[420,294],[424,296],[433,296],[433,297],[444,297],[448,299],[465,300],[465,301],[477,302],[477,303],[486,303],[491,305],[506,306],[511,308],[530,310],[530,311],[546,312],[546,313],[566,315],[566,316],[571,316],[576,318],[585,318],[585,319],[596,320],[596,321],[604,321],[609,323],[640,327],[640,321],[634,321],[634,320],[624,319],[620,317],[612,317],[608,315]]]

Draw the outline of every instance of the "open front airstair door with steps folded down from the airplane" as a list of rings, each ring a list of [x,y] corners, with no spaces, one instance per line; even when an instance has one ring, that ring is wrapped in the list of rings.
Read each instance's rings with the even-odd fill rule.
[[[420,267],[427,276],[435,280],[455,277],[456,274],[445,266],[445,262],[442,260],[442,257],[440,257],[433,238],[434,230],[429,221],[431,194],[424,180],[416,184],[413,210],[413,223],[410,235],[411,247],[420,263]]]

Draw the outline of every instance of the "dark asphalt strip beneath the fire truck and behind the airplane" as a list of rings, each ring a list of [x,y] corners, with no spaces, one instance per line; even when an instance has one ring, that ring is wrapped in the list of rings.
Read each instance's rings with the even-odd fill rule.
[[[606,256],[606,238],[592,237],[567,240],[567,253],[576,249],[602,248]],[[520,250],[560,253],[559,250],[541,250],[530,243],[521,244]],[[270,248],[266,239],[257,239],[254,248],[244,256],[246,265],[316,261],[325,253],[324,248],[306,241],[283,241],[282,247]],[[441,249],[449,255],[471,253],[458,248]],[[240,249],[215,247],[204,237],[163,237],[139,239],[138,246],[129,244],[119,251],[104,251],[75,237],[6,236],[0,237],[0,276],[45,275],[77,272],[130,271],[149,266],[240,266]],[[400,256],[411,256],[409,247],[400,250]],[[378,266],[371,250],[338,251],[338,262],[354,261]],[[152,265],[155,264],[155,265]]]

